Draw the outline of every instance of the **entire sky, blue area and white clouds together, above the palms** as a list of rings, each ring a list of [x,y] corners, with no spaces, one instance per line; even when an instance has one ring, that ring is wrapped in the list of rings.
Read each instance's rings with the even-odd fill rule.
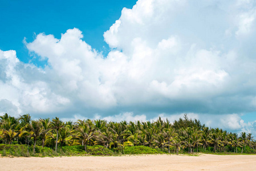
[[[0,1],[0,112],[256,136],[256,2]]]

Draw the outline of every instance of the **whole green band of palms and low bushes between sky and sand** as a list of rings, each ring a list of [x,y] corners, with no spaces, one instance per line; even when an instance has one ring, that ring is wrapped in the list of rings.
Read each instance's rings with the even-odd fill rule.
[[[214,153],[255,154],[251,133],[208,128],[199,120],[179,119],[170,123],[55,119],[31,120],[0,116],[1,156],[113,156],[121,154]]]

